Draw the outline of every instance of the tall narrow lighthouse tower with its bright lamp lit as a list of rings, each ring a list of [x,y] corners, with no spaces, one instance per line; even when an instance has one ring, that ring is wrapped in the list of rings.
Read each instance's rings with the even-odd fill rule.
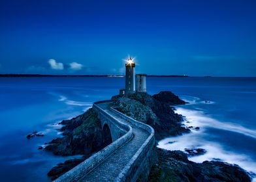
[[[125,64],[125,94],[135,92],[135,62],[129,57]]]

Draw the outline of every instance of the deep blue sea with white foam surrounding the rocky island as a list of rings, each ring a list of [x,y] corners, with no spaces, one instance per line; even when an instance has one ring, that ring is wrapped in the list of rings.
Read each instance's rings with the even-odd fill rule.
[[[110,99],[124,85],[124,77],[0,77],[1,181],[51,181],[52,167],[81,156],[60,157],[38,148],[61,137],[59,122]],[[256,174],[256,77],[147,77],[148,94],[162,90],[187,101],[175,112],[193,128],[157,147],[203,148],[204,155],[189,160],[229,162]],[[34,131],[44,136],[27,139]]]

